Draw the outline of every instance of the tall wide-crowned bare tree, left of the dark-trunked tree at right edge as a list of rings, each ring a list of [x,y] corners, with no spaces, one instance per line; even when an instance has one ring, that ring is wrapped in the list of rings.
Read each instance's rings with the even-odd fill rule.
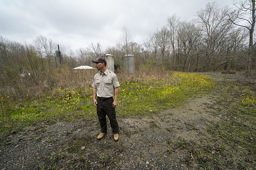
[[[204,71],[210,69],[214,55],[217,55],[219,48],[226,48],[223,46],[223,41],[227,39],[228,33],[232,30],[233,26],[227,20],[227,13],[230,9],[227,6],[220,7],[215,1],[206,4],[206,9],[196,12],[198,23],[202,29],[203,47],[201,48],[204,53]]]

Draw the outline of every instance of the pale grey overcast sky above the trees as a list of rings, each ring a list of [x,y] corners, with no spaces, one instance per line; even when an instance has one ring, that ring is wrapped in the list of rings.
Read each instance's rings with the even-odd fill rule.
[[[42,34],[73,50],[100,42],[104,51],[124,26],[142,44],[167,17],[190,21],[208,2],[214,0],[0,0],[0,35],[29,44]],[[233,6],[233,0],[217,2]]]

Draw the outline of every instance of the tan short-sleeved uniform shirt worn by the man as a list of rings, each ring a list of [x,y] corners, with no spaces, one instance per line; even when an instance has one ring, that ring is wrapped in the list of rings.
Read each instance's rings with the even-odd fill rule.
[[[97,89],[98,97],[113,97],[115,95],[114,89],[119,87],[117,76],[108,69],[102,74],[98,72],[94,76],[92,87]]]

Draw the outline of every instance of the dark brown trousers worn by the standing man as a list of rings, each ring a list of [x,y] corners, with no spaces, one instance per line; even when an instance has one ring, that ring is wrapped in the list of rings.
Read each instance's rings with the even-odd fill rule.
[[[106,115],[108,116],[110,126],[112,128],[112,132],[114,134],[118,133],[119,126],[118,126],[118,123],[116,120],[116,109],[113,108],[113,106],[112,106],[113,101],[114,101],[113,98],[109,98],[104,101],[97,98],[97,115],[99,118],[100,130],[102,133],[107,132]]]

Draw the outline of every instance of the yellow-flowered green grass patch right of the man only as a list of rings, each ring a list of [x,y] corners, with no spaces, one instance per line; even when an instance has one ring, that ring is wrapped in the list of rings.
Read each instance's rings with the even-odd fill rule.
[[[141,79],[120,83],[120,115],[146,115],[166,107],[176,107],[196,93],[214,86],[212,78],[202,74],[175,72],[172,77]]]

